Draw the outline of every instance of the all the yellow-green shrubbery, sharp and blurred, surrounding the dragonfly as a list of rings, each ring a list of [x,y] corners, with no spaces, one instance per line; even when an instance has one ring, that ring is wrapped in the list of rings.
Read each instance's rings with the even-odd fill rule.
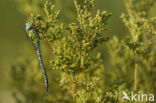
[[[92,12],[94,0],[70,0],[74,10],[59,10],[61,0],[17,2],[39,30],[50,82],[46,92],[38,60],[23,56],[10,71],[17,103],[128,103],[123,91],[156,94],[155,0],[124,0],[122,38],[107,35],[111,13]],[[63,18],[65,11],[72,17]]]

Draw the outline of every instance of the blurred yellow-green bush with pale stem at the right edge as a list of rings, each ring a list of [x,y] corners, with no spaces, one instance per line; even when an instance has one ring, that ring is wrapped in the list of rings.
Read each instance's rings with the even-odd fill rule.
[[[152,87],[154,81],[151,78],[154,78],[155,75],[156,19],[155,17],[147,18],[153,2],[152,0],[125,1],[128,14],[122,14],[121,18],[128,28],[129,34],[121,41],[116,37],[113,38],[108,45],[110,54],[115,59],[113,65],[120,70],[116,71],[123,74],[123,77],[119,76],[122,81],[130,80],[129,85],[132,87],[134,84],[134,90],[141,90],[142,87],[146,86],[146,89],[143,90],[147,92],[155,89]],[[127,76],[127,71],[132,73],[134,77]]]

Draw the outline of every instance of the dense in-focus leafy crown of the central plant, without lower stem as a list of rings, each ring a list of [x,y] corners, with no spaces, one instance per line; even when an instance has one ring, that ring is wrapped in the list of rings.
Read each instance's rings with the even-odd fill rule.
[[[54,10],[54,5],[49,2],[44,5],[44,16],[32,16],[41,37],[46,37],[52,43],[56,57],[52,60],[53,68],[71,74],[87,70],[93,64],[90,52],[108,40],[104,31],[111,15],[98,10],[96,16],[92,17],[93,0],[84,0],[82,4],[78,0],[74,2],[77,22],[66,27],[63,23],[57,25],[59,11]]]

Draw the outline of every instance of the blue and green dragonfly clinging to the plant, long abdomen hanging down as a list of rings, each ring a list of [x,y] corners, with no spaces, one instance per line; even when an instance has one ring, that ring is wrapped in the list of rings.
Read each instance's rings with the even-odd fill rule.
[[[32,42],[33,46],[35,47],[35,49],[37,51],[38,59],[39,59],[40,66],[41,66],[41,69],[43,72],[45,86],[48,91],[48,77],[47,77],[44,63],[42,60],[41,48],[40,48],[40,39],[41,38],[39,37],[38,30],[34,26],[34,23],[28,22],[28,23],[26,23],[25,31],[26,31],[28,39]]]

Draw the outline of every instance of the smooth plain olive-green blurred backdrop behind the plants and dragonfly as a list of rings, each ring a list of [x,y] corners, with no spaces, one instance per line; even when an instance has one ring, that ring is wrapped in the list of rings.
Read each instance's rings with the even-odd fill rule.
[[[41,4],[44,3],[44,0],[40,1]],[[53,0],[53,2],[63,12],[61,21],[70,23],[76,16],[73,12],[75,11],[73,0]],[[36,58],[36,52],[24,32],[29,14],[23,10],[22,6],[27,6],[23,0],[0,0],[0,103],[15,103],[12,95],[14,87],[10,84],[11,67],[20,61],[21,57]],[[97,9],[112,13],[107,27],[108,35],[124,37],[127,29],[120,19],[120,15],[123,12],[126,13],[123,1],[95,0],[94,10]],[[156,16],[155,10],[156,6],[150,12],[151,17]],[[107,57],[107,54],[105,55]],[[44,58],[46,59],[46,56]]]

